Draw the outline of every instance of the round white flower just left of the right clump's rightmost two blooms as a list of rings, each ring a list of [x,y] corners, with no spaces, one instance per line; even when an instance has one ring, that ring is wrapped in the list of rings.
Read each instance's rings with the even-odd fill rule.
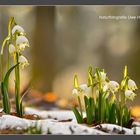
[[[110,81],[108,83],[108,88],[112,93],[117,92],[119,89],[119,84],[116,81]]]

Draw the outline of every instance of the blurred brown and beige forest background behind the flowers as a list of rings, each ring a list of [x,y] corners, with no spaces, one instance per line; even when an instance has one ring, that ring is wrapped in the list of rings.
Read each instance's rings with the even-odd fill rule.
[[[101,20],[102,15],[140,15],[140,7],[0,6],[1,44],[14,16],[31,45],[26,50],[31,67],[22,71],[22,88],[32,79],[34,95],[54,93],[71,100],[74,74],[80,83],[87,82],[90,64],[118,82],[126,64],[140,88],[140,20]],[[137,95],[133,105],[140,105],[140,89]]]

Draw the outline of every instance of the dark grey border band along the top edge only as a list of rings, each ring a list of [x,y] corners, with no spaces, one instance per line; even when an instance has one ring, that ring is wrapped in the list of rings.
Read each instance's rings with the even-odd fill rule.
[[[0,5],[140,5],[140,0],[0,0]]]

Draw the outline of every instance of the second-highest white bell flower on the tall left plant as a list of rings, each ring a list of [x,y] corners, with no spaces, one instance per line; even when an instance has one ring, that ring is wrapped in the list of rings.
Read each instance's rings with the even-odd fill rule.
[[[25,36],[18,36],[16,40],[17,50],[24,51],[25,47],[29,47],[29,41]]]

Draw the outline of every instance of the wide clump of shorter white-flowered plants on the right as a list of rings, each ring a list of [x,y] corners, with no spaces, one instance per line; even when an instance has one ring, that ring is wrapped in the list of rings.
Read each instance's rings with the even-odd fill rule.
[[[88,84],[78,83],[74,76],[74,89],[72,94],[78,99],[79,109],[73,108],[78,123],[84,123],[82,100],[86,113],[86,123],[113,123],[128,127],[131,120],[127,101],[135,98],[136,83],[128,76],[127,66],[124,67],[123,79],[120,84],[109,80],[105,70],[92,66],[88,70]]]

